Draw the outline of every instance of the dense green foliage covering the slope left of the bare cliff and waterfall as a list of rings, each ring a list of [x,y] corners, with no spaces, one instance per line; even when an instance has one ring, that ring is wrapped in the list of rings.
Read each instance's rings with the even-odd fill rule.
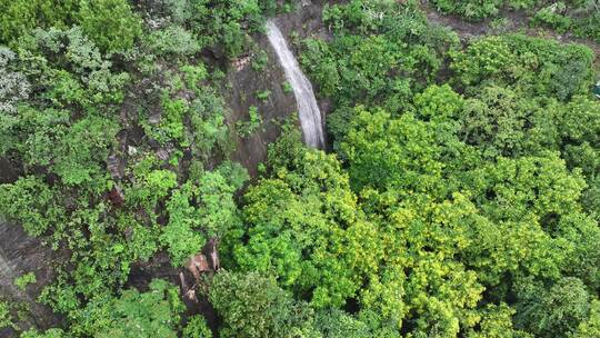
[[[181,4],[174,2],[166,8]],[[19,178],[0,186],[0,213],[68,254],[47,262],[56,278],[39,295],[66,316],[64,330],[23,336],[177,336],[183,329],[178,291],[164,281],[151,294],[121,290],[136,265],[167,252],[182,266],[238,221],[233,195],[246,172],[228,161],[214,165],[231,151],[228,111],[211,79],[218,70],[193,58],[204,44],[181,27],[173,29],[190,42],[184,49],[140,41],[164,42],[164,34],[144,26],[128,1],[51,7],[1,4],[0,157],[19,168]],[[258,27],[258,9],[254,20]],[[176,61],[162,63],[166,71],[158,63],[168,57]],[[34,277],[14,284],[29,290]],[[161,300],[161,292],[170,296]],[[2,308],[3,327],[12,326],[14,311]],[[207,336],[200,322],[187,335]]]

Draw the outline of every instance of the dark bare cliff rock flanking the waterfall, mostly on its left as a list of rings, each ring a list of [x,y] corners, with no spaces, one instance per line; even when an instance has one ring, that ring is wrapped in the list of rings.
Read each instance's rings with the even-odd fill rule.
[[[288,38],[288,43],[297,53],[297,57],[296,42],[308,37],[327,38],[321,13],[322,3],[314,1],[308,6],[299,4],[298,11],[281,14],[276,19],[278,27]],[[232,160],[243,165],[252,177],[256,177],[258,165],[264,161],[267,157],[268,145],[274,141],[280,133],[278,121],[283,121],[291,115],[297,113],[298,108],[293,93],[284,90],[286,77],[283,69],[279,64],[267,37],[257,34],[253,39],[259,49],[267,52],[269,62],[264,69],[254,70],[251,66],[252,56],[248,56],[247,59],[233,60],[228,71],[228,81],[231,88],[227,90],[226,98],[232,112],[231,127],[234,126],[237,120],[249,119],[248,111],[251,106],[257,107],[262,117],[263,123],[256,133],[247,138],[234,136],[237,149],[231,157]],[[266,100],[258,99],[256,93],[266,90],[271,92],[269,98]],[[323,99],[319,103],[321,112],[327,113],[329,110],[328,100]]]

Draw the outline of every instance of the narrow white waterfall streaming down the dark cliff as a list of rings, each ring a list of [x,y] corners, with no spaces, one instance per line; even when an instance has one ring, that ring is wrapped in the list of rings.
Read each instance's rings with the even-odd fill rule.
[[[283,38],[283,34],[272,20],[267,21],[267,37],[283,68],[286,79],[293,89],[304,142],[312,148],[324,148],[321,111],[317,105],[312,84],[300,70],[300,66],[289,49],[286,38]]]

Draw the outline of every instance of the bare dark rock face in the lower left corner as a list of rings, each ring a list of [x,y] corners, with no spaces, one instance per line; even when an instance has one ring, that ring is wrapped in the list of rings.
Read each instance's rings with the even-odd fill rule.
[[[50,308],[36,302],[42,287],[53,278],[53,261],[64,259],[66,252],[52,251],[39,240],[27,236],[19,226],[0,220],[0,295],[14,305],[31,309],[30,317],[20,322],[21,327],[49,328],[60,318]],[[23,291],[14,286],[14,279],[28,274],[36,274],[37,282]],[[0,337],[11,337],[9,330],[0,330]]]

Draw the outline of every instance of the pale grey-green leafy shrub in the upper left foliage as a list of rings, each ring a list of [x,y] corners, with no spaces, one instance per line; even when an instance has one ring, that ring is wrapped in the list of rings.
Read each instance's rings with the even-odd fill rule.
[[[113,72],[112,63],[80,28],[36,29],[18,47],[19,60],[28,64],[22,72],[43,89],[36,92],[36,99],[99,113],[106,111],[99,105],[121,102],[129,74]]]

